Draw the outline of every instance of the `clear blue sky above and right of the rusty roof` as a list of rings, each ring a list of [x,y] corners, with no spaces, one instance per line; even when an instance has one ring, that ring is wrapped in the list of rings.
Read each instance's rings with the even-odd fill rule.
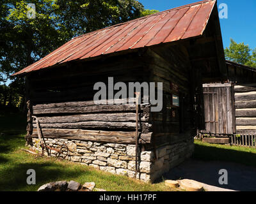
[[[146,9],[164,11],[200,0],[139,0]],[[256,0],[219,0],[218,6],[228,6],[228,18],[220,19],[223,46],[228,47],[230,38],[256,48]]]

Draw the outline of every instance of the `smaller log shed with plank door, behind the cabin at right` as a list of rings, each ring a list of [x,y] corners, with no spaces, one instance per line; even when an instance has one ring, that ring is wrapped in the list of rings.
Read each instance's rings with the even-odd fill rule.
[[[225,141],[232,143],[237,135],[246,135],[253,141],[256,135],[256,69],[231,61],[226,61],[226,68],[225,80],[203,85],[205,129],[200,133],[229,137],[231,140]],[[245,141],[242,145],[246,145]],[[248,142],[247,146],[255,146],[255,142]]]

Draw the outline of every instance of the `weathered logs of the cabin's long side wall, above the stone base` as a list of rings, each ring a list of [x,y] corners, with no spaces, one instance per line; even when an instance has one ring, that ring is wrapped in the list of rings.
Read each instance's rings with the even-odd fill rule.
[[[38,118],[45,138],[135,143],[135,104],[115,105],[109,100],[106,105],[95,105],[93,96],[97,91],[93,91],[93,85],[97,82],[108,85],[108,77],[113,77],[114,84],[147,82],[146,60],[132,53],[31,73],[28,77],[31,114]],[[35,121],[29,123],[28,129],[31,136],[38,136]],[[152,129],[150,105],[140,105],[140,143],[152,142]]]

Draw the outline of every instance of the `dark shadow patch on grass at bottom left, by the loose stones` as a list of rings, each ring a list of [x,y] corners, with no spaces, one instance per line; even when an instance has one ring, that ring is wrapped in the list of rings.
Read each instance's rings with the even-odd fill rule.
[[[1,159],[1,158],[0,158]],[[36,185],[28,185],[26,179],[29,175],[27,170],[36,171]],[[61,164],[46,163],[19,163],[1,170],[0,191],[36,191],[38,187],[61,178],[78,177],[90,173],[88,171],[77,171],[66,169]]]

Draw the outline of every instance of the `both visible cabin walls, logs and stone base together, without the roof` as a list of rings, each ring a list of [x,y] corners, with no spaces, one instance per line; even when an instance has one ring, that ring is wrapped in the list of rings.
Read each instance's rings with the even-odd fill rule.
[[[108,77],[113,77],[114,84],[163,82],[161,112],[150,112],[150,104],[139,106],[137,177],[155,180],[191,156],[195,87],[189,80],[189,57],[180,47],[165,49],[77,62],[30,75],[30,113],[38,119],[49,147],[44,153],[135,177],[136,106],[93,102],[97,92],[93,85],[108,84]],[[173,106],[173,95],[179,96],[179,107]],[[40,150],[36,122],[29,121],[28,135],[33,138],[33,147]]]

